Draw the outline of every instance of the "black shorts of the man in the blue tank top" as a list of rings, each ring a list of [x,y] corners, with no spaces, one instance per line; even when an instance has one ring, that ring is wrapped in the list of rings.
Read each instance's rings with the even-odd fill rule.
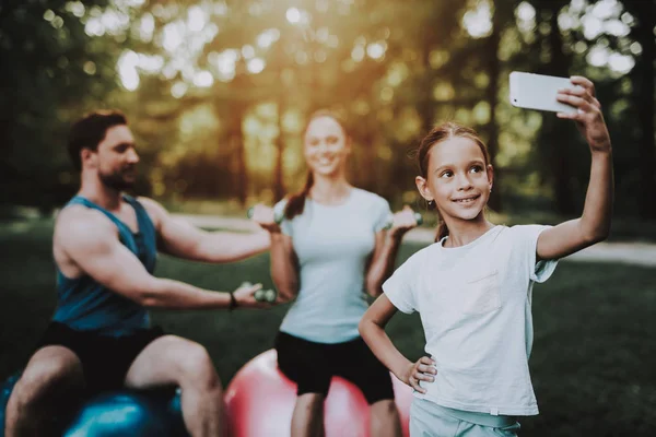
[[[84,371],[87,394],[124,387],[128,369],[145,346],[164,335],[160,327],[140,330],[132,335],[106,336],[93,331],[77,331],[63,323],[51,322],[38,347],[65,346],[71,350]]]

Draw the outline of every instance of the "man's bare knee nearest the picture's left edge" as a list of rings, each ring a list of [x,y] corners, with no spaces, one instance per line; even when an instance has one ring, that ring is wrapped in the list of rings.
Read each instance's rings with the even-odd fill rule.
[[[83,386],[78,356],[63,346],[46,346],[30,359],[14,393],[20,401],[30,402],[49,394],[75,395]]]

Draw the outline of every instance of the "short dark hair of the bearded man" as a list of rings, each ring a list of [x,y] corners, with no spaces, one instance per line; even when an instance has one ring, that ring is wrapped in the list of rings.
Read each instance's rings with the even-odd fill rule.
[[[118,110],[96,110],[75,121],[69,133],[68,152],[77,170],[82,169],[82,149],[96,151],[109,128],[127,125],[128,120]]]

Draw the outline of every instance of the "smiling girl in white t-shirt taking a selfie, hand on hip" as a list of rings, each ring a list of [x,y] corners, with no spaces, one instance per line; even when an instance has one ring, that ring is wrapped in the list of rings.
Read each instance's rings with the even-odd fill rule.
[[[417,188],[437,209],[435,244],[418,251],[383,285],[360,322],[374,354],[414,389],[413,436],[515,436],[515,416],[538,414],[528,371],[531,290],[557,260],[608,236],[612,157],[594,85],[581,76],[560,102],[591,151],[583,215],[558,226],[500,226],[485,220],[493,170],[471,129],[446,123],[419,146]],[[419,311],[430,356],[409,362],[385,333],[394,314]]]

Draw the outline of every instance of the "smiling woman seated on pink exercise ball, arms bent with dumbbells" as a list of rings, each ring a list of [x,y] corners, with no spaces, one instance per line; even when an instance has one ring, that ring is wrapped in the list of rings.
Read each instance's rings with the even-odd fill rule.
[[[303,190],[253,218],[271,232],[271,275],[280,298],[295,298],[276,339],[280,370],[297,383],[292,436],[324,435],[324,400],[335,375],[354,382],[372,405],[373,436],[400,436],[389,371],[360,338],[367,308],[363,291],[383,293],[403,234],[417,225],[412,210],[391,215],[383,198],[352,187],[351,152],[343,123],[314,114],[304,133],[309,168]]]

